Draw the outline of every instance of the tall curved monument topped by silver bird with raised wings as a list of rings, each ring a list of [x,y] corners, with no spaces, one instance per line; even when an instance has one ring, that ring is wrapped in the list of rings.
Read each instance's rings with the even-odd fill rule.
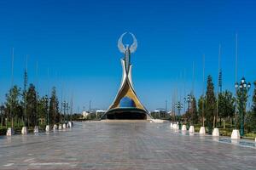
[[[123,68],[121,85],[112,105],[109,106],[108,111],[106,111],[102,118],[146,120],[150,116],[138,99],[131,80],[131,54],[137,49],[137,39],[129,32],[133,38],[133,43],[131,45],[124,45],[123,37],[125,34],[127,34],[127,32],[123,33],[118,41],[119,51],[124,54],[124,58],[121,59]]]

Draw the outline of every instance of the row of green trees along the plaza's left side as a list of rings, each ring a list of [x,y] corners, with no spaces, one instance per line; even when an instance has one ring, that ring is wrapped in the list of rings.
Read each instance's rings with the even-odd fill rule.
[[[63,122],[65,118],[59,110],[56,88],[52,88],[50,96],[40,97],[33,84],[23,92],[18,86],[11,88],[0,106],[0,117],[2,127],[11,124],[15,127],[53,125]]]

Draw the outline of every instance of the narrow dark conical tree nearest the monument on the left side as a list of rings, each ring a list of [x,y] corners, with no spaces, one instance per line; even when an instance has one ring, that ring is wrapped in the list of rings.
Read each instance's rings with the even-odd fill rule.
[[[49,122],[55,124],[60,121],[59,101],[57,99],[56,88],[52,88],[51,97],[49,100]]]

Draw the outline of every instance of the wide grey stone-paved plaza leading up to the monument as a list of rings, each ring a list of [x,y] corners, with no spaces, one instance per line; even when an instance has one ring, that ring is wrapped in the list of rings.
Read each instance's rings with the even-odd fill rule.
[[[253,141],[175,133],[170,123],[75,122],[0,137],[0,169],[256,169]]]

